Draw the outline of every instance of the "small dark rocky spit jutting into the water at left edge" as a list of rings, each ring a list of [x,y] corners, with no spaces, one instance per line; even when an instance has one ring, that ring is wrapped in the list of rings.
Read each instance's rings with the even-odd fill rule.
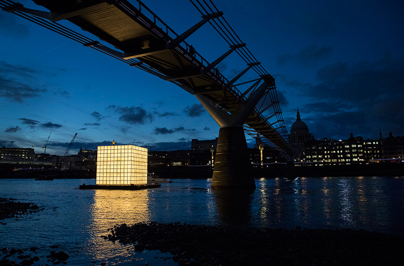
[[[2,198],[0,197],[0,220],[7,218],[20,218],[29,213],[36,213],[43,210],[37,204],[32,202],[20,202],[15,201],[12,198]],[[5,225],[5,223],[2,223]]]

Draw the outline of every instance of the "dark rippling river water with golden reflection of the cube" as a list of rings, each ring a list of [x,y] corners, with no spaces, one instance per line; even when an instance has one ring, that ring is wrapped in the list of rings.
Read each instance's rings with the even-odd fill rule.
[[[0,248],[51,245],[68,265],[175,265],[157,251],[104,240],[107,228],[138,222],[248,227],[353,228],[404,235],[404,177],[256,179],[253,193],[211,190],[211,180],[174,179],[151,190],[78,190],[88,179],[0,179],[0,197],[45,209],[0,225]],[[157,259],[155,259],[157,257]],[[96,264],[92,264],[96,262]],[[46,264],[41,257],[40,264]],[[38,263],[37,263],[38,264]]]

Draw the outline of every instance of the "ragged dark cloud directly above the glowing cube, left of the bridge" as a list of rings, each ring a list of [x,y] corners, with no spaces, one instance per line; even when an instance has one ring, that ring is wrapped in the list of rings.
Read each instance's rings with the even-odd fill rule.
[[[154,117],[140,106],[134,107],[120,107],[116,105],[110,105],[108,108],[114,109],[118,114],[120,120],[128,124],[144,124],[148,121],[153,121]]]

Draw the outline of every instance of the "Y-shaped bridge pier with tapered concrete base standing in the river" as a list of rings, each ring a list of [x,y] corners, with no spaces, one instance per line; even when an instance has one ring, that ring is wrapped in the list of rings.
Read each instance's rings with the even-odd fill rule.
[[[213,188],[255,189],[243,124],[274,78],[269,76],[263,80],[264,82],[231,114],[218,108],[201,94],[196,95],[203,107],[220,126],[213,168]]]

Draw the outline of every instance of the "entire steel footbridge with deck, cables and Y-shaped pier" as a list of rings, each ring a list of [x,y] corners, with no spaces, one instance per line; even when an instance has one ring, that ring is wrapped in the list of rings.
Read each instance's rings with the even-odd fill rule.
[[[49,11],[0,0],[0,7],[195,95],[220,126],[212,187],[255,188],[245,133],[281,151],[289,165],[297,153],[288,142],[275,78],[255,59],[211,0],[190,1],[202,19],[182,34],[175,33],[140,0],[34,0]],[[94,39],[58,24],[60,20],[77,25]],[[206,23],[229,45],[228,51],[213,62],[186,42]],[[229,80],[216,66],[231,53],[237,53],[245,65]],[[249,70],[256,78],[237,84]],[[239,90],[245,84],[249,87]],[[265,117],[264,112],[269,115]]]

